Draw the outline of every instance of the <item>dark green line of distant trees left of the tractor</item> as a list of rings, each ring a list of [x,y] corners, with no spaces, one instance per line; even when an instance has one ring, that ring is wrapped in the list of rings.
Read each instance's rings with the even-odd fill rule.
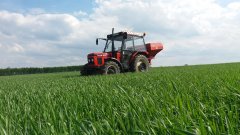
[[[80,71],[81,66],[0,69],[0,76]]]

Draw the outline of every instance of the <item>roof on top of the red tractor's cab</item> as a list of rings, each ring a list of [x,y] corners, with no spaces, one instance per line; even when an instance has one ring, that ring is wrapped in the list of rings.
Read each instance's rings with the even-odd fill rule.
[[[129,32],[129,31],[121,31],[118,33],[113,33],[107,35],[108,39],[114,38],[114,40],[123,40],[123,39],[132,39],[132,38],[143,38],[146,34],[145,33],[136,33],[136,32]]]

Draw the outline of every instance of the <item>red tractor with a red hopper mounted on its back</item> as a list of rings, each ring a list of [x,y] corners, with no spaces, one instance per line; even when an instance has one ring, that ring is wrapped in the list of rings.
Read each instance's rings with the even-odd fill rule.
[[[81,69],[81,75],[118,74],[121,72],[146,72],[151,60],[163,49],[161,43],[145,44],[145,33],[118,32],[97,38],[106,42],[103,52],[88,54],[88,63]]]

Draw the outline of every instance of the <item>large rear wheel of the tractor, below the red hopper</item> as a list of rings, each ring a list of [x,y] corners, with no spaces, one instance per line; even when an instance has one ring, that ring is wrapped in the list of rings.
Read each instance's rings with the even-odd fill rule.
[[[147,72],[149,70],[149,61],[144,55],[137,55],[131,64],[132,72]]]

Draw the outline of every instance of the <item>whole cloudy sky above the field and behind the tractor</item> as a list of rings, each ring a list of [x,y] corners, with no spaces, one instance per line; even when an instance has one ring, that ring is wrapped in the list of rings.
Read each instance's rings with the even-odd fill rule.
[[[83,65],[113,27],[163,43],[152,66],[240,62],[239,0],[0,0],[0,68]]]

